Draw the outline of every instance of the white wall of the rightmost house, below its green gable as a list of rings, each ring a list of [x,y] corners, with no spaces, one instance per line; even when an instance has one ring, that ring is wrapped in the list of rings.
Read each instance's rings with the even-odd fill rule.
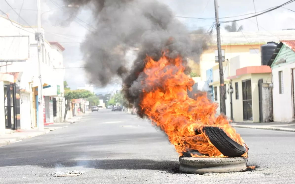
[[[291,91],[291,69],[295,63],[272,68],[273,75],[273,121],[288,122],[294,120]],[[279,93],[278,72],[283,72],[283,93]]]

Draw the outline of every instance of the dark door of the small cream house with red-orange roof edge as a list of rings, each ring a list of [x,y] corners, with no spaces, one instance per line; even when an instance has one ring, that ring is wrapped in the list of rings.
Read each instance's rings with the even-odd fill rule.
[[[252,88],[251,79],[242,81],[243,117],[244,120],[253,120],[252,115]]]

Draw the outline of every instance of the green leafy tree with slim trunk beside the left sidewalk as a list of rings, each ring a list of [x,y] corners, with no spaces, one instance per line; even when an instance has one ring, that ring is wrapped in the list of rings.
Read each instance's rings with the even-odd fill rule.
[[[91,91],[85,89],[77,89],[77,90],[65,90],[65,115],[63,116],[63,120],[65,121],[65,117],[67,116],[67,108],[70,104],[70,100],[72,99],[79,99],[79,98],[89,98],[93,96]]]

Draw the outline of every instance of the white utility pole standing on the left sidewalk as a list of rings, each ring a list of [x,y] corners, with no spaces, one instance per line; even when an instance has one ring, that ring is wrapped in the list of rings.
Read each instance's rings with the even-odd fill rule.
[[[41,0],[37,0],[37,33],[35,33],[35,39],[37,40],[37,47],[38,47],[38,126],[40,130],[44,130],[44,116],[43,116],[43,96],[42,96],[42,78],[41,78],[41,59],[43,58],[42,55],[42,41],[43,35],[41,30]]]

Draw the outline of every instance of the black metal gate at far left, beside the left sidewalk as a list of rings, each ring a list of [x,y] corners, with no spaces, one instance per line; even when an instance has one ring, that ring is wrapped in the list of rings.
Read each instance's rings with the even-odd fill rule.
[[[20,129],[19,99],[19,86],[15,83],[4,85],[5,127],[8,129]]]

